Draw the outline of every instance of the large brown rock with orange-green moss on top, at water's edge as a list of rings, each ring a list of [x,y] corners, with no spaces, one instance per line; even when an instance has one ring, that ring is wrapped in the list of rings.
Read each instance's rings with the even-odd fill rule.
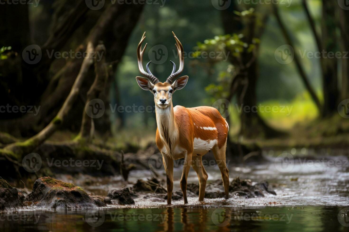
[[[72,183],[64,183],[51,177],[41,177],[35,181],[33,191],[25,197],[25,201],[39,207],[67,209],[106,206],[108,198],[89,196],[83,189]]]

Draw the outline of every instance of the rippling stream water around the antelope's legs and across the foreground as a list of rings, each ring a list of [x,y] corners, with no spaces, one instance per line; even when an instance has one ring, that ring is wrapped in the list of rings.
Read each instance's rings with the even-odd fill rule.
[[[348,231],[349,230],[349,173],[348,167],[304,165],[295,162],[292,168],[274,163],[264,165],[229,166],[230,178],[267,180],[276,196],[239,198],[229,200],[189,197],[167,206],[159,198],[135,199],[132,207],[98,208],[89,210],[54,211],[28,208],[0,212],[1,231]],[[218,168],[206,167],[208,181],[220,179]],[[286,170],[286,171],[285,171]],[[135,171],[129,181],[149,177],[148,171]],[[163,173],[159,173],[164,176]],[[180,190],[181,169],[174,170],[174,191]],[[61,176],[69,181],[69,176]],[[92,185],[84,185],[85,177],[75,179],[90,193],[106,194],[107,190],[121,187],[119,177],[100,178]],[[79,183],[80,182],[80,183]],[[198,182],[191,169],[188,183]]]

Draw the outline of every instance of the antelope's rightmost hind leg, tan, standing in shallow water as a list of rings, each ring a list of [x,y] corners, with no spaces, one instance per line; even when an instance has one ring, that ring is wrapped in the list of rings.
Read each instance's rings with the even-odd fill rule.
[[[224,185],[224,195],[225,199],[229,199],[229,170],[227,168],[227,165],[225,163],[225,149],[227,148],[227,141],[225,141],[225,144],[218,148],[218,146],[215,146],[213,148],[213,154],[215,156],[217,165],[219,169],[221,170],[223,185]]]

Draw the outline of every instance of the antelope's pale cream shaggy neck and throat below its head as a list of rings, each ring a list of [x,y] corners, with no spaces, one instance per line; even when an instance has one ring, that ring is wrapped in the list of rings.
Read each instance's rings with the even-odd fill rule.
[[[160,138],[166,146],[169,154],[172,152],[173,145],[178,138],[178,125],[174,119],[173,105],[162,109],[155,106],[156,124],[159,130]]]

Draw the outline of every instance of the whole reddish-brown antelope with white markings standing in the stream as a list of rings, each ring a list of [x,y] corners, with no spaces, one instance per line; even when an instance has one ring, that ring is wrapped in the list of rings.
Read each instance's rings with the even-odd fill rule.
[[[178,78],[184,69],[184,49],[176,35],[176,48],[179,56],[179,69],[173,65],[171,75],[165,82],[160,82],[149,70],[143,69],[143,54],[147,43],[142,49],[145,33],[137,47],[138,68],[144,77],[136,77],[138,85],[149,90],[154,95],[156,114],[156,145],[163,157],[166,171],[167,203],[171,204],[173,190],[173,160],[184,158],[183,173],[180,179],[180,188],[183,192],[184,204],[187,200],[187,177],[192,166],[199,178],[199,201],[203,201],[205,195],[207,172],[202,165],[202,156],[213,150],[214,157],[220,168],[225,199],[229,198],[229,170],[225,164],[225,149],[229,125],[214,107],[199,106],[186,108],[173,107],[172,95],[183,89],[188,81],[188,76]],[[176,71],[176,72],[175,72]]]

